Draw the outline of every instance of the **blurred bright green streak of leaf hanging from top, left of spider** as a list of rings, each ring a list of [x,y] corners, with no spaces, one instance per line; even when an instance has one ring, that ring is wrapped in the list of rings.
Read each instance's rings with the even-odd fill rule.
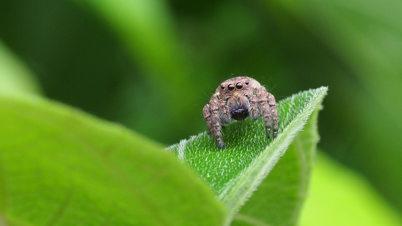
[[[191,93],[188,65],[174,29],[173,16],[163,0],[76,1],[94,9],[117,32],[135,60],[147,70],[148,78],[171,95],[175,107],[188,106]],[[163,78],[163,79],[162,79]],[[176,90],[182,90],[180,94]],[[188,91],[188,92],[187,92]],[[168,101],[168,100],[166,100]],[[174,119],[171,119],[174,120]]]

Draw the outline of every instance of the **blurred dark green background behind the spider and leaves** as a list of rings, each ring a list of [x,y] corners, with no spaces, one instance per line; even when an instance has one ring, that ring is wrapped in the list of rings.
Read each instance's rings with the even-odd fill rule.
[[[170,145],[206,130],[202,107],[230,77],[278,100],[329,86],[320,149],[402,211],[401,12],[400,0],[0,0],[0,88],[24,82]]]

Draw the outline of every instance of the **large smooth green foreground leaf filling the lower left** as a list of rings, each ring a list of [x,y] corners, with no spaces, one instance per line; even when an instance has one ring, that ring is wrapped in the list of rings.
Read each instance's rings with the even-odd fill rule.
[[[123,127],[43,99],[0,95],[0,128],[0,221],[222,225],[226,219],[226,208],[187,166]]]

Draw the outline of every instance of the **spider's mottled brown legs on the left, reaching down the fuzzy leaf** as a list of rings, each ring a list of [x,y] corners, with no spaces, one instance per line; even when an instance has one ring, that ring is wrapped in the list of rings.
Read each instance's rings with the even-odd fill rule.
[[[219,110],[219,109],[221,109],[221,110]],[[226,109],[226,107],[225,107],[225,109]],[[224,141],[222,140],[222,133],[221,133],[222,120],[221,120],[220,113],[223,111],[224,110],[222,109],[221,103],[219,101],[219,93],[215,93],[211,97],[209,104],[205,105],[204,109],[203,109],[203,115],[204,115],[205,121],[207,122],[209,132],[211,132],[211,134],[215,137],[216,141],[218,142],[219,148],[225,148],[225,146],[226,146]],[[225,116],[223,114],[222,114],[222,118],[225,119]],[[227,120],[227,119],[225,119],[225,120]]]

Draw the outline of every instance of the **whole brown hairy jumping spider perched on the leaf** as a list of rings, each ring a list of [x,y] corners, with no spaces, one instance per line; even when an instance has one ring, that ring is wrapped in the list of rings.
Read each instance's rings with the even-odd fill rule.
[[[238,121],[250,116],[265,119],[267,138],[270,138],[273,122],[273,138],[278,130],[278,111],[275,97],[256,80],[249,77],[230,78],[222,82],[203,109],[209,132],[215,137],[219,148],[225,148],[222,140],[222,123]]]

